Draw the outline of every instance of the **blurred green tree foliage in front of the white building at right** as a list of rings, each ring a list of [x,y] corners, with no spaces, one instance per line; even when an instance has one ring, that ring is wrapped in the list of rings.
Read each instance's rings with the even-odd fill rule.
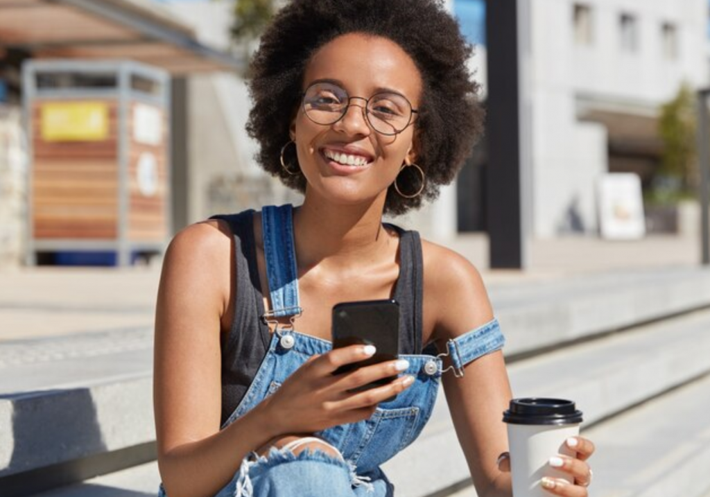
[[[663,141],[659,173],[679,180],[684,192],[697,185],[696,99],[687,84],[661,107],[658,121]]]

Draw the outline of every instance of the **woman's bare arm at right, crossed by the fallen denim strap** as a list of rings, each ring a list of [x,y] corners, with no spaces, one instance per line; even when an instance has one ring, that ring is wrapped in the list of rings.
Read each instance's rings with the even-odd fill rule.
[[[426,271],[427,267],[436,271]],[[493,319],[476,268],[457,253],[433,244],[425,245],[425,312],[434,320],[440,349],[448,339]],[[476,359],[464,371],[462,378],[445,373],[442,383],[476,492],[479,497],[510,497],[510,473],[497,464],[508,450],[502,418],[511,398],[503,354],[496,351]]]

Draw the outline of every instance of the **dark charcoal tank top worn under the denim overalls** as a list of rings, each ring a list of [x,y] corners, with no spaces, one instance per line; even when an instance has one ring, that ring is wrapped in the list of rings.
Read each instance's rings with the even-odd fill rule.
[[[268,325],[261,320],[264,306],[253,216],[254,211],[250,209],[212,218],[229,224],[236,259],[234,321],[229,334],[222,339],[222,424],[244,397],[271,342]],[[421,354],[422,244],[417,231],[388,226],[400,236],[400,273],[392,296],[400,304],[400,354]]]

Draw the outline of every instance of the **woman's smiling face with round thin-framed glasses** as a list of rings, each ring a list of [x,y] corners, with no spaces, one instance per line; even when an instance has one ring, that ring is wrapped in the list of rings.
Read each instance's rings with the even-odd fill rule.
[[[420,104],[422,77],[415,62],[387,38],[342,35],[313,55],[303,82],[303,90],[309,88],[316,91],[306,97],[308,114],[302,105],[290,130],[307,180],[306,197],[384,204],[400,167],[415,162],[416,114],[408,126],[403,121],[408,105],[417,109]],[[319,124],[337,119],[341,114],[332,109],[348,98],[341,119]]]

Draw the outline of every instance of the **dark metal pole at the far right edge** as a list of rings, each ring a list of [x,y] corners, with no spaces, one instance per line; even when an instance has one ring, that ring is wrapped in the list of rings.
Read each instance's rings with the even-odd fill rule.
[[[710,265],[710,126],[708,97],[710,88],[698,91],[698,165],[700,168],[700,238],[701,261]]]

